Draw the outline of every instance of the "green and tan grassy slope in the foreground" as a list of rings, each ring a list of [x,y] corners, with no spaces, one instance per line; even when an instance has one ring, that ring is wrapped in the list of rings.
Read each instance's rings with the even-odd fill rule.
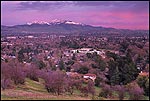
[[[91,100],[92,96],[81,97],[80,91],[75,90],[73,95],[69,95],[65,93],[63,95],[53,95],[46,91],[43,85],[44,81],[40,79],[39,82],[32,81],[30,79],[26,79],[25,85],[18,85],[13,89],[6,89],[4,91],[1,90],[1,99],[2,100]],[[102,97],[98,97],[99,91],[101,88],[95,87],[96,96],[95,100],[118,100],[118,94],[113,92],[113,98],[106,99]],[[126,94],[125,100],[128,100],[129,95]],[[148,100],[148,97],[144,98]]]

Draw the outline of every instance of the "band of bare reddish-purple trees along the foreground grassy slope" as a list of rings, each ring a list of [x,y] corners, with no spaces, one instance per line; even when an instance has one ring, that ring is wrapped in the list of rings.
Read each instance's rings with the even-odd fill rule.
[[[2,89],[10,88],[13,84],[24,84],[25,78],[30,78],[34,81],[39,81],[42,78],[45,83],[45,89],[47,92],[61,95],[64,92],[69,94],[74,94],[75,90],[79,90],[81,96],[92,95],[95,96],[95,83],[91,80],[88,82],[82,81],[82,79],[75,79],[67,76],[63,71],[56,70],[52,71],[50,69],[39,69],[35,64],[31,66],[24,66],[19,62],[2,62],[2,77],[1,77],[1,87]],[[102,71],[101,71],[102,72]],[[100,75],[98,77],[103,77]],[[142,99],[143,94],[149,96],[149,78],[138,77],[136,81],[128,83],[126,85],[108,85],[104,82],[104,78],[100,79],[100,87],[102,88],[99,92],[99,97],[111,98],[113,92],[118,93],[119,100],[123,100],[126,92],[128,92],[131,100]]]

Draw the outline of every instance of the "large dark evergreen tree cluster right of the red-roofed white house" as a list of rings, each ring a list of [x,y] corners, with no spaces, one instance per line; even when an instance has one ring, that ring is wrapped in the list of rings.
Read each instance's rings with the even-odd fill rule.
[[[126,56],[112,54],[112,58],[113,60],[108,62],[108,79],[111,85],[127,84],[136,79],[138,70],[129,52]]]

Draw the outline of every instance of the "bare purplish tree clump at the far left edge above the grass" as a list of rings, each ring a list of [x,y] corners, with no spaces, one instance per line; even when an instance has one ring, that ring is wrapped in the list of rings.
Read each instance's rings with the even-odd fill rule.
[[[9,88],[12,83],[15,85],[24,84],[26,73],[22,64],[2,63],[1,66],[1,85],[2,89]]]

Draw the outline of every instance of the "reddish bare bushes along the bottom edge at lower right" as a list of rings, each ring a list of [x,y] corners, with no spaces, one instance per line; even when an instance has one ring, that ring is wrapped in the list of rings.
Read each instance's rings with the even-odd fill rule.
[[[113,92],[116,92],[118,94],[119,100],[123,100],[126,93],[128,92],[130,100],[141,100],[144,94],[143,89],[136,82],[132,82],[127,85],[115,86],[102,84],[101,87],[102,89],[99,93],[99,97],[105,98],[113,97]]]

